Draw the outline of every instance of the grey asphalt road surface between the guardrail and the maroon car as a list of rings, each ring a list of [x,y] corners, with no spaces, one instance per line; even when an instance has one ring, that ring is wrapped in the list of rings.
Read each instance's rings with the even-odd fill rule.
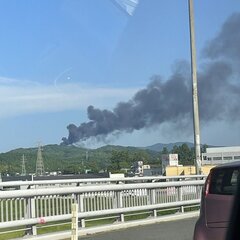
[[[197,218],[132,227],[80,237],[79,240],[192,240]]]

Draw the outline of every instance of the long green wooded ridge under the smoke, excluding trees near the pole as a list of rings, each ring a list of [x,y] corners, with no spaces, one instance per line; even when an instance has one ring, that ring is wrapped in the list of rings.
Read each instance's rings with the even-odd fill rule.
[[[6,153],[0,153],[0,173],[21,174],[22,156],[26,161],[26,172],[35,173],[38,148],[18,148]],[[45,145],[42,147],[42,157],[46,172],[61,171],[68,173],[83,173],[87,169],[93,172],[106,171],[112,165],[113,153],[126,153],[126,167],[130,167],[133,159],[145,158],[147,161],[157,159],[158,153],[136,147],[107,145],[97,149],[86,149],[76,146]],[[116,154],[115,154],[116,155]],[[116,155],[117,156],[117,155]],[[120,156],[121,157],[121,156]],[[122,154],[123,158],[123,154]]]

